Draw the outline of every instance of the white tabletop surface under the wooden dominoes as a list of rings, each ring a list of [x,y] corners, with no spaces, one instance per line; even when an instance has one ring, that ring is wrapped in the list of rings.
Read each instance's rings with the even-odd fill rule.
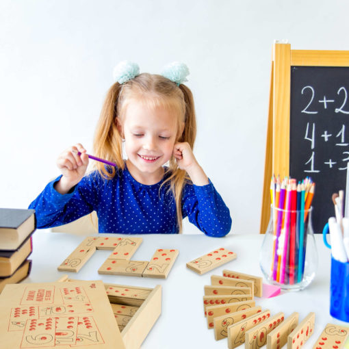
[[[100,235],[108,236],[107,234]],[[179,256],[168,279],[100,275],[97,270],[109,256],[110,251],[108,250],[97,250],[78,273],[67,274],[71,279],[102,280],[121,285],[141,287],[162,285],[162,313],[144,340],[142,348],[227,348],[227,339],[216,341],[213,330],[207,329],[206,318],[203,315],[203,287],[210,284],[212,274],[222,275],[223,269],[263,276],[259,268],[259,249],[263,235],[235,234],[224,238],[205,235],[161,234],[133,236],[143,238],[142,245],[132,257],[134,260],[150,260],[156,248],[179,249]],[[83,238],[84,236],[81,235],[51,233],[48,230],[36,231],[33,235],[34,251],[31,255],[33,266],[25,282],[57,281],[64,274],[57,270],[57,266],[68,257]],[[312,348],[328,322],[340,323],[331,318],[329,313],[331,252],[324,246],[322,235],[316,235],[315,239],[318,247],[319,266],[311,285],[302,292],[282,292],[281,295],[269,299],[255,298],[256,305],[261,305],[262,309],[270,309],[272,315],[283,311],[286,318],[294,311],[298,311],[301,321],[310,311],[315,312],[314,333],[304,348]],[[185,263],[188,261],[218,247],[233,250],[237,253],[237,259],[204,275],[198,275],[186,268]]]

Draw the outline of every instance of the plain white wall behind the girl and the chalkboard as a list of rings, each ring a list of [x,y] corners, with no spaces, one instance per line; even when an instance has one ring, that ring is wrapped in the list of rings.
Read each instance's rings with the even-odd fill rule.
[[[178,60],[191,72],[196,157],[232,231],[258,233],[273,40],[348,50],[348,18],[344,0],[1,0],[0,207],[26,208],[64,148],[92,151],[116,63],[159,73]]]

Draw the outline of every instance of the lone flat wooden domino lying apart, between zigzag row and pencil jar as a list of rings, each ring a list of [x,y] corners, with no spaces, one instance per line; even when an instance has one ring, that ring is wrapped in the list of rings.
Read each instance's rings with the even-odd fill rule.
[[[205,272],[209,272],[209,270],[222,266],[224,263],[233,261],[236,257],[236,253],[233,253],[226,248],[217,248],[216,250],[207,253],[207,255],[203,255],[194,259],[194,261],[188,262],[187,268],[198,274],[205,274]]]

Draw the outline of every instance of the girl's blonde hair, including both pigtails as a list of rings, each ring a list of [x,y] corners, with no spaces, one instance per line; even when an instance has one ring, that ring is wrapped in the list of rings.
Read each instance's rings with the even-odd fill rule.
[[[99,122],[94,135],[94,154],[97,157],[116,163],[117,167],[124,170],[125,162],[122,159],[122,135],[118,131],[120,122],[127,105],[132,100],[142,101],[151,107],[166,107],[177,116],[177,142],[188,142],[193,148],[196,138],[196,117],[194,99],[190,89],[181,84],[170,81],[161,75],[142,73],[125,83],[114,83],[109,88]],[[183,132],[181,125],[184,122]],[[191,183],[185,170],[181,170],[177,161],[172,156],[168,167],[170,176],[161,184],[169,183],[168,191],[174,196],[177,209],[177,224],[179,233],[182,231],[181,198],[185,183]],[[99,162],[96,169],[105,179],[112,179],[116,175],[115,168],[105,168]]]

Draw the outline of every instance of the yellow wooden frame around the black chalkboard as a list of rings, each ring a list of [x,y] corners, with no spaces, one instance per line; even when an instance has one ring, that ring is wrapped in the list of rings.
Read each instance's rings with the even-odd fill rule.
[[[270,178],[273,173],[289,175],[291,66],[349,67],[349,51],[292,50],[291,44],[273,45],[261,234],[266,233],[270,218]]]

